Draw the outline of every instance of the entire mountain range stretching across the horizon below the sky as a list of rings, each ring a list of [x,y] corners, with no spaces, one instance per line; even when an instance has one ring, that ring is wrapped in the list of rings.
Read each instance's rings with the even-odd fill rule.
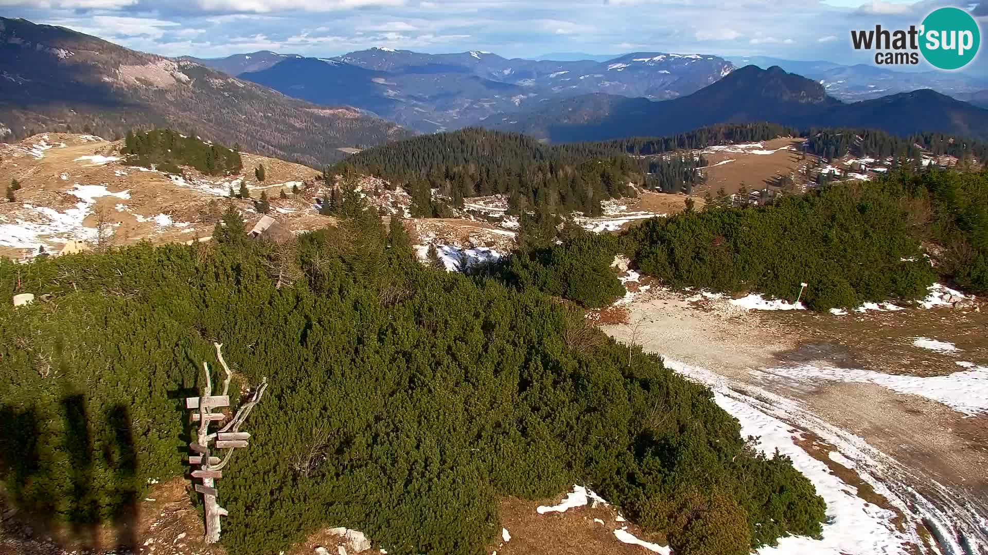
[[[848,70],[800,63],[810,73]],[[963,94],[988,100],[984,90]],[[735,69],[718,56],[553,61],[371,48],[335,58],[176,59],[0,19],[0,139],[73,129],[115,137],[167,125],[321,167],[345,147],[467,125],[564,142],[746,121],[988,138],[988,111],[932,90],[845,103],[819,80],[779,66]]]

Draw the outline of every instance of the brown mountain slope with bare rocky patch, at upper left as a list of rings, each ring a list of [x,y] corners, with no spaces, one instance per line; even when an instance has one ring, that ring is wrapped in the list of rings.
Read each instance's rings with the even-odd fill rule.
[[[340,147],[410,134],[353,108],[291,99],[196,62],[0,18],[0,139],[71,130],[114,137],[155,125],[315,166],[341,158]]]

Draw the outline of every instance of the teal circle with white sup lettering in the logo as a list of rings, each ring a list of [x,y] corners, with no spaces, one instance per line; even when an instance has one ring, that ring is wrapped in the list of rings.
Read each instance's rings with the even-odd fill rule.
[[[959,69],[978,53],[978,22],[960,8],[940,8],[923,20],[920,51],[934,67]]]

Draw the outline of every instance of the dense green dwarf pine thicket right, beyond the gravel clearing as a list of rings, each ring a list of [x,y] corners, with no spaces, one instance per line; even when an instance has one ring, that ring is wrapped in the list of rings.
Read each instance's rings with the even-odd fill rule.
[[[523,237],[537,240],[484,271],[590,308],[623,294],[609,268],[618,253],[672,287],[794,300],[806,282],[802,301],[814,310],[922,298],[938,278],[988,292],[985,171],[906,168],[765,205],[710,199],[702,211],[653,218],[619,237],[572,225],[556,233],[554,223],[523,219]]]

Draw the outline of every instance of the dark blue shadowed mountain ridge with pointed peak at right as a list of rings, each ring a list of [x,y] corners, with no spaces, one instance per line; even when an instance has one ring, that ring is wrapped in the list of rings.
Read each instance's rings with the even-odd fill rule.
[[[771,121],[800,128],[853,126],[906,135],[940,131],[988,138],[988,111],[932,90],[845,104],[816,81],[778,66],[749,65],[678,99],[652,102],[585,95],[522,114],[485,119],[482,125],[519,131],[552,142],[669,135],[715,123]]]

